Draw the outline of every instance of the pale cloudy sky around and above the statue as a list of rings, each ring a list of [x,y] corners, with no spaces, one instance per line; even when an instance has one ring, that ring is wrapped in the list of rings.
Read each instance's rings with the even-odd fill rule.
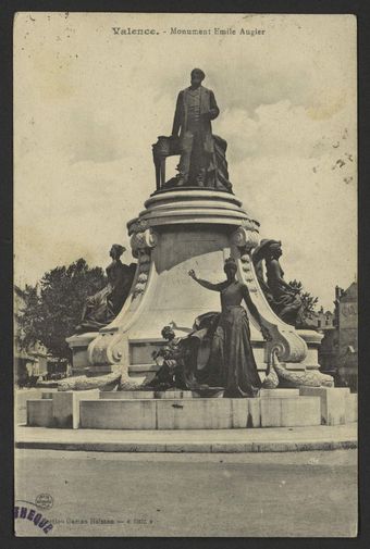
[[[130,250],[126,222],[155,190],[151,144],[199,66],[234,192],[261,238],[283,241],[285,277],[332,309],[357,269],[353,16],[21,13],[14,39],[17,282],[81,257],[106,266],[113,242]]]

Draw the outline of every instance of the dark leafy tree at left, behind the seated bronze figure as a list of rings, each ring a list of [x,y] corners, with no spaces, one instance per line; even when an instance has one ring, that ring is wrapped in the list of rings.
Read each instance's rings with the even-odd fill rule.
[[[71,361],[65,338],[79,323],[83,307],[107,284],[100,267],[90,269],[84,259],[69,266],[45,273],[36,286],[15,287],[21,301],[15,317],[20,328],[20,346],[26,350],[37,341],[62,362]]]

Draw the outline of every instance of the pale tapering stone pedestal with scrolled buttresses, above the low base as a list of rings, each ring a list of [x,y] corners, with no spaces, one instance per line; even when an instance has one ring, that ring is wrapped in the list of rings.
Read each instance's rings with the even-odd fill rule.
[[[138,217],[127,223],[137,272],[121,313],[98,334],[67,339],[76,373],[94,369],[94,375],[114,365],[128,365],[135,382],[150,379],[156,372],[152,351],[163,340],[161,328],[173,323],[177,336],[185,336],[195,319],[220,311],[220,296],[197,285],[188,271],[211,282],[223,278],[223,263],[233,257],[237,277],[247,285],[262,322],[272,334],[268,345],[260,326],[249,314],[251,344],[261,378],[273,351],[289,369],[318,367],[317,341],[300,337],[270,309],[250,259],[259,241],[259,224],[230,192],[180,189],[155,194]],[[320,336],[319,336],[320,337]],[[311,337],[312,339],[312,337]],[[311,357],[311,354],[316,357]]]

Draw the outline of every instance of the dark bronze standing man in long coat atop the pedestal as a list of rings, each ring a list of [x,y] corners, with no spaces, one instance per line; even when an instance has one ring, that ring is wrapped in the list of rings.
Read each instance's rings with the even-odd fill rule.
[[[201,86],[205,73],[192,71],[192,85],[180,91],[172,137],[180,138],[181,159],[176,185],[203,187],[214,154],[211,121],[220,110],[213,91]]]

